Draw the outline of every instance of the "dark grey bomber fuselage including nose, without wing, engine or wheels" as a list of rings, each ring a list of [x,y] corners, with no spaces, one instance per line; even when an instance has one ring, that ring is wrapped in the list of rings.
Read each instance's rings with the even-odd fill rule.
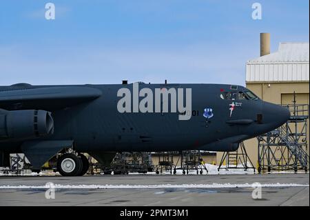
[[[152,91],[155,88],[191,88],[192,117],[179,120],[180,112],[118,112],[117,103],[121,97],[116,94],[120,88],[128,88],[133,93],[132,84],[79,86],[99,90],[101,95],[60,109],[54,107],[57,103],[42,101],[21,103],[19,107],[6,103],[0,108],[49,110],[54,119],[54,134],[41,139],[73,140],[74,149],[79,152],[236,150],[236,145],[231,144],[278,128],[289,118],[289,112],[280,106],[253,97],[240,99],[239,93],[249,91],[242,86],[144,83],[138,86],[139,89],[150,88]],[[31,86],[29,90],[54,87],[62,86]],[[0,90],[10,90],[10,87],[0,87]],[[237,96],[223,97],[231,95],[230,92],[237,93]],[[212,117],[204,116],[205,109],[212,110]],[[19,140],[4,140],[0,142],[0,149],[19,152],[22,143]]]

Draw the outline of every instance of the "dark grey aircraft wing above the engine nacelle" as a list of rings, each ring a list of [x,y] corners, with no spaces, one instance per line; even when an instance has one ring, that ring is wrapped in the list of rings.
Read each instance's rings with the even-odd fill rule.
[[[51,86],[0,91],[0,109],[59,110],[101,97],[96,88],[83,86]]]

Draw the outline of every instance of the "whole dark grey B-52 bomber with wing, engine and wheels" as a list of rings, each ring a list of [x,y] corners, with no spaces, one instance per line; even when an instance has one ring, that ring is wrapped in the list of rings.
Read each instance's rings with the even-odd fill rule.
[[[23,153],[33,170],[57,157],[63,176],[103,166],[116,152],[234,151],[278,128],[289,110],[242,86],[146,84],[0,86],[0,166]]]

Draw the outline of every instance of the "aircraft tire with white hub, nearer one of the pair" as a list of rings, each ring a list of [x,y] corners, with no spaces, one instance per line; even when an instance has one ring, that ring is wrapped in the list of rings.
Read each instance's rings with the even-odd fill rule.
[[[83,162],[76,154],[63,154],[57,159],[57,171],[63,177],[79,176],[83,169]]]

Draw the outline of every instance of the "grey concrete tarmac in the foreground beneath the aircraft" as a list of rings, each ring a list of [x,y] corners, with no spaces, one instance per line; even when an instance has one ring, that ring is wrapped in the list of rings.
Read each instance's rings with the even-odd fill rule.
[[[73,188],[56,188],[55,198],[46,199],[46,189],[33,186],[45,186],[48,182]],[[261,199],[252,198],[254,188],[242,186],[254,182],[267,184],[262,188]],[[214,183],[237,184],[237,187],[163,188],[167,184],[190,186]],[[278,183],[279,186],[276,185]],[[281,186],[287,183],[302,186]],[[121,189],[87,188],[106,184],[125,186]],[[268,187],[268,184],[275,186]],[[81,185],[85,188],[74,188]],[[126,185],[154,188],[126,188]],[[0,177],[0,206],[309,206],[309,174]]]

